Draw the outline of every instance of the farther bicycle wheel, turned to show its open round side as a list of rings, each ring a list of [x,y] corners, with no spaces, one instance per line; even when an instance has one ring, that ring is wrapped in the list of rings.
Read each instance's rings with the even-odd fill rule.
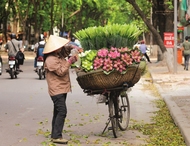
[[[130,120],[130,104],[128,95],[119,95],[119,118],[118,118],[118,126],[119,129],[125,131],[129,125]]]

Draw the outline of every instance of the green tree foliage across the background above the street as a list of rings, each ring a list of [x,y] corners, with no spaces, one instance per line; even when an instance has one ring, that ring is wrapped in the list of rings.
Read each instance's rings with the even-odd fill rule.
[[[139,5],[150,18],[150,3],[139,0]],[[3,28],[7,28],[7,22],[15,25],[19,22],[22,29],[14,31],[22,31],[30,39],[29,34],[34,30],[35,41],[44,31],[52,34],[55,26],[72,33],[92,26],[133,23],[148,31],[138,13],[125,0],[2,0],[0,8]]]

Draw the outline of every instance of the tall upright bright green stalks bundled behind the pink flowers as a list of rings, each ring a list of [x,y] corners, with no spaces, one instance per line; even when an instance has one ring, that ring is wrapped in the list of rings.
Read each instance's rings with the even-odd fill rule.
[[[142,32],[131,24],[113,24],[107,26],[88,27],[79,30],[74,36],[80,41],[85,50],[101,48],[133,48]]]

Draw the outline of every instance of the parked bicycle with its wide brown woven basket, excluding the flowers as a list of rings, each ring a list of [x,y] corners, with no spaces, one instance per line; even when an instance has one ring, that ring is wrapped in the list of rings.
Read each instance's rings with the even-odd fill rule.
[[[101,94],[106,97],[108,105],[108,122],[102,133],[108,128],[115,138],[118,137],[118,128],[125,131],[130,119],[130,104],[126,91],[134,86],[141,77],[141,68],[134,65],[128,68],[126,74],[112,72],[109,75],[102,70],[86,73],[76,70],[77,81],[87,95]]]

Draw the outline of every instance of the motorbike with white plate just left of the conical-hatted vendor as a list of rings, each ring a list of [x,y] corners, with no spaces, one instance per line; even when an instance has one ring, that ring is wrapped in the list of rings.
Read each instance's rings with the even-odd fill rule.
[[[36,70],[39,79],[41,80],[42,77],[45,79],[45,69],[44,69],[44,58],[43,56],[39,56],[37,58],[37,70]]]

